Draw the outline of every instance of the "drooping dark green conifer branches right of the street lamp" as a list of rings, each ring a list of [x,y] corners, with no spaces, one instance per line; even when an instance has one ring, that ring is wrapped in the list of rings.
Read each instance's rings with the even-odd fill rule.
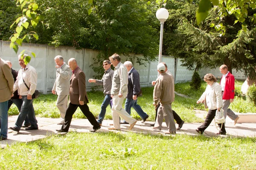
[[[235,15],[222,19],[226,32],[220,36],[219,30],[212,27],[218,24],[217,11],[209,11],[206,20],[197,25],[195,12],[197,3],[188,3],[186,0],[168,1],[169,19],[166,20],[163,51],[181,59],[182,65],[189,70],[200,68],[216,68],[222,64],[232,69],[244,71],[246,76],[255,77],[256,40],[254,23],[247,18],[247,32],[241,31],[242,24],[233,24]],[[254,11],[248,11],[253,14]]]

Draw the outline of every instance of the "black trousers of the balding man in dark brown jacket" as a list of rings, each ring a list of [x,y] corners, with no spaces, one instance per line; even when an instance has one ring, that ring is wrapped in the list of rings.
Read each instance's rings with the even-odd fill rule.
[[[68,132],[69,127],[70,127],[70,123],[71,123],[71,120],[72,120],[72,116],[73,116],[73,114],[75,113],[75,111],[78,107],[84,113],[84,116],[87,117],[90,124],[93,125],[93,129],[97,129],[98,127],[100,127],[99,123],[96,121],[95,117],[93,116],[93,113],[90,112],[89,107],[87,106],[87,104],[74,105],[72,103],[69,103],[68,106],[67,106],[67,111],[66,111],[66,115],[65,115],[64,124],[61,127],[62,130],[64,130],[65,132]]]

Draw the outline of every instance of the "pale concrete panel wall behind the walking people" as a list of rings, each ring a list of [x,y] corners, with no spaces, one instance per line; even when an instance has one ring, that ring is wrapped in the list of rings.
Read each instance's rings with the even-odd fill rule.
[[[40,45],[40,44],[30,44],[23,43],[23,46],[19,47],[19,51],[15,54],[13,49],[9,47],[10,42],[0,41],[0,57],[9,60],[12,62],[12,68],[15,70],[20,69],[18,62],[18,54],[23,50],[32,51],[36,54],[36,58],[32,58],[30,65],[32,65],[38,74],[38,85],[37,89],[47,94],[52,91],[53,84],[56,78],[56,68],[54,57],[61,55],[64,58],[64,62],[67,62],[70,58],[76,58],[78,65],[83,69],[86,77],[86,88],[88,91],[95,85],[94,83],[89,83],[88,79],[93,78],[95,75],[93,69],[89,67],[93,65],[94,57],[99,53],[98,51],[91,49],[76,49],[75,47],[61,46],[58,48],[49,46],[49,45]],[[142,57],[137,55],[137,57]],[[157,57],[157,56],[156,56]],[[125,62],[126,58],[122,57],[122,63]],[[158,59],[158,57],[157,57]],[[187,70],[185,67],[180,66],[181,62],[177,59],[176,70],[175,70],[175,59],[170,56],[162,56],[162,61],[166,62],[168,65],[169,71],[175,77],[175,82],[186,82],[192,79],[193,71]],[[139,65],[136,63],[136,59],[131,61],[134,63],[134,68],[137,69],[140,73],[140,82],[141,86],[151,86],[151,82],[157,79],[157,64],[158,61],[147,63],[146,65]],[[175,75],[176,73],[176,75]],[[221,77],[221,73],[218,68],[215,70],[205,69],[200,71],[200,76],[204,77],[205,74],[212,73],[216,77]],[[242,72],[233,71],[233,74],[236,79],[246,79]]]

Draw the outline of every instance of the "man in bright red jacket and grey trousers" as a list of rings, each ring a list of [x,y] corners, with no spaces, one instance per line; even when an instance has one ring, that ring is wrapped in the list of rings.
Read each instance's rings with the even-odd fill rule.
[[[220,71],[223,74],[221,77],[221,88],[222,88],[222,101],[225,118],[227,116],[234,120],[236,125],[239,116],[237,116],[231,109],[229,109],[230,103],[234,101],[235,96],[235,77],[228,71],[227,65],[221,65]]]

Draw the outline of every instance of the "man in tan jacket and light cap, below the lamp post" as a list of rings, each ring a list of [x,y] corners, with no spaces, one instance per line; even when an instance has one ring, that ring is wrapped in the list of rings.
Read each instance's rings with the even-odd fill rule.
[[[160,102],[160,107],[157,111],[157,119],[153,130],[161,130],[163,118],[169,128],[166,134],[175,134],[176,127],[172,113],[172,102],[174,102],[174,79],[171,75],[166,73],[166,67],[163,63],[157,65],[157,71],[160,73],[156,80],[153,92],[153,105],[157,106]]]

